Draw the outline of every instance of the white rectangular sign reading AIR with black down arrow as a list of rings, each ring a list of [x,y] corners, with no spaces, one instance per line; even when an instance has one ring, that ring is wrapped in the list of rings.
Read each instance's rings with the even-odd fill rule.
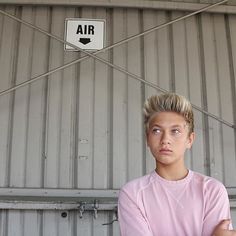
[[[105,20],[68,18],[65,21],[65,40],[84,50],[104,48]],[[65,50],[78,51],[69,45]]]

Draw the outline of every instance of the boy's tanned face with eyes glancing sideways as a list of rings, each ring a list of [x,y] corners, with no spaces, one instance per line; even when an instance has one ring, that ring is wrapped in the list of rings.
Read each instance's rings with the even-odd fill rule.
[[[178,113],[159,112],[149,122],[147,145],[158,165],[182,164],[193,140],[194,133],[189,134],[184,117]]]

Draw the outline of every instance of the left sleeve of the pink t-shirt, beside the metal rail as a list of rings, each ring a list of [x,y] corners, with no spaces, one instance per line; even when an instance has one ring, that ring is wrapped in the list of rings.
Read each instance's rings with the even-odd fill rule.
[[[153,236],[135,197],[123,190],[119,193],[118,221],[121,236]]]

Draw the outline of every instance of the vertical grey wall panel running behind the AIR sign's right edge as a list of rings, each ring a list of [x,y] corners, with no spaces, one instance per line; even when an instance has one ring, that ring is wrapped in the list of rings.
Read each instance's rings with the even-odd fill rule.
[[[107,17],[106,9],[99,8],[96,10],[98,19],[106,19],[106,41],[110,42],[111,22]],[[110,52],[100,55],[109,61]],[[110,160],[110,74],[111,69],[95,61],[94,63],[94,148],[93,148],[93,188],[110,188],[111,178],[111,160]]]

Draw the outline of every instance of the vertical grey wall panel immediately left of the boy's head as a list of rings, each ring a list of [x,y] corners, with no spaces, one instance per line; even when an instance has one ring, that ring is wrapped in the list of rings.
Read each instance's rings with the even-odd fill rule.
[[[141,19],[139,10],[130,10],[127,12],[127,37],[141,33]],[[127,70],[131,73],[142,76],[142,56],[141,38],[132,40],[127,43]],[[134,179],[144,173],[143,168],[143,119],[142,119],[142,103],[143,103],[143,85],[128,77],[127,89],[127,134],[128,139],[128,179]],[[132,110],[133,112],[129,112]],[[140,115],[138,115],[140,114]],[[135,122],[134,122],[135,121]]]

